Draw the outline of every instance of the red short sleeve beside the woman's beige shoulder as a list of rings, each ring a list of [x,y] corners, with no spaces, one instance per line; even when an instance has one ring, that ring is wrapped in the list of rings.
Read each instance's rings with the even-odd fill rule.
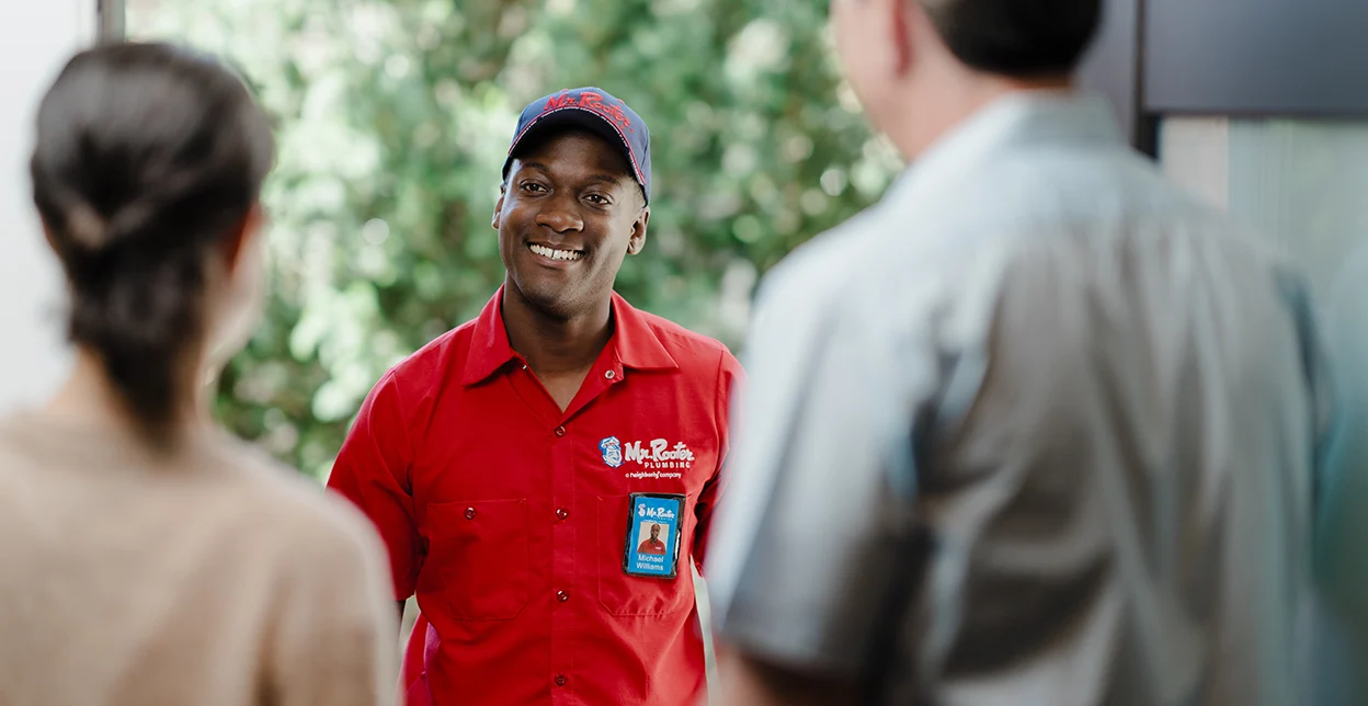
[[[413,445],[394,372],[361,404],[328,488],[350,499],[375,524],[389,550],[395,601],[413,595],[423,568],[409,469]]]

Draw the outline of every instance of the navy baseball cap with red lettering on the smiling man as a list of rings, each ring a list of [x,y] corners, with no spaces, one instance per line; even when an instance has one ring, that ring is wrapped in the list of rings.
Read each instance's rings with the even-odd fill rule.
[[[551,127],[579,127],[621,148],[632,166],[632,176],[646,193],[646,202],[651,201],[651,133],[646,120],[609,92],[592,86],[551,93],[523,108],[509,156],[503,160],[503,178],[509,175],[518,145]]]

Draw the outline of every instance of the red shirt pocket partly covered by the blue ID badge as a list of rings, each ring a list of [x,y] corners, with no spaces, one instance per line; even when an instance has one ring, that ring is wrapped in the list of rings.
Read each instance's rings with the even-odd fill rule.
[[[694,572],[689,569],[694,553],[692,498],[684,504],[680,521],[679,571],[673,579],[628,576],[622,571],[627,551],[627,525],[631,521],[631,497],[598,498],[598,566],[599,603],[614,616],[668,616],[692,607]],[[633,545],[635,549],[635,545]]]

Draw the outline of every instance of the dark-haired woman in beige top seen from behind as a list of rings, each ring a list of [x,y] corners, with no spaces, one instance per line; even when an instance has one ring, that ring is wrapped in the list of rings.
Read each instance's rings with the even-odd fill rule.
[[[209,415],[261,301],[265,116],[213,59],[126,44],[75,56],[37,127],[77,354],[0,421],[0,703],[390,701],[373,530]]]

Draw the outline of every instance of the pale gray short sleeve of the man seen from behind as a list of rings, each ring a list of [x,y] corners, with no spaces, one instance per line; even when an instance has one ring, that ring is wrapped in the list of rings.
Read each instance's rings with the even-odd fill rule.
[[[854,673],[904,577],[912,423],[934,375],[919,334],[895,341],[850,297],[819,275],[766,290],[709,565],[721,639],[808,672]]]

